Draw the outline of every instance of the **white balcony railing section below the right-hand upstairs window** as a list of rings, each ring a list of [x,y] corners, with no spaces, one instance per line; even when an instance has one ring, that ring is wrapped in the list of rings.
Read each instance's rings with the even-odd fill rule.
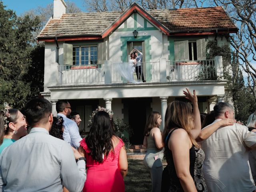
[[[169,81],[215,80],[217,78],[214,60],[167,61],[167,64]]]

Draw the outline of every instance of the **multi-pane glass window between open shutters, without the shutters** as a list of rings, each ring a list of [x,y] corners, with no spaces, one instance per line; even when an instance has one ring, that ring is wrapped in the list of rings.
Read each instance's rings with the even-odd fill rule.
[[[73,65],[98,64],[97,46],[73,47]]]

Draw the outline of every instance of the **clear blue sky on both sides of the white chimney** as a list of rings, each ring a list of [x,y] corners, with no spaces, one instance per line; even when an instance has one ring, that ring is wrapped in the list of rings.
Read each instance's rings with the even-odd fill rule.
[[[38,6],[46,6],[47,4],[53,2],[53,0],[2,0],[8,9],[12,9],[19,16],[20,14],[26,12],[27,10],[37,8]],[[81,10],[82,0],[70,0],[74,2]]]

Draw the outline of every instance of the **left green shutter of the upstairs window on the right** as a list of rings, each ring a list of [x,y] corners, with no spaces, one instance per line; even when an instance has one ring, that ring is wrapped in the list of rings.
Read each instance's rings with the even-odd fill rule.
[[[174,42],[174,57],[176,61],[188,61],[188,40]]]

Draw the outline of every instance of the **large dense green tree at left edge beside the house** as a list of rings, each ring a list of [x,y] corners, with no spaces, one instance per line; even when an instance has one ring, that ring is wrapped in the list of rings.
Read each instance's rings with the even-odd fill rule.
[[[38,30],[40,21],[38,17],[17,17],[5,7],[0,1],[0,103],[21,108],[31,96],[31,81],[24,77],[32,65],[32,32]]]

